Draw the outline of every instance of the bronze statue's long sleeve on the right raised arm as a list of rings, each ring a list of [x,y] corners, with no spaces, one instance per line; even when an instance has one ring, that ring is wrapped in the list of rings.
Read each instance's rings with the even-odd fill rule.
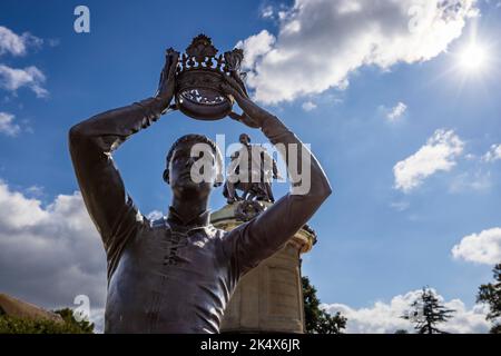
[[[239,275],[278,251],[332,192],[316,158],[276,117],[267,118],[262,130],[284,157],[289,177],[297,178],[297,171],[310,169],[310,178],[304,176],[303,187],[297,181],[293,182],[291,192],[250,221],[227,234],[226,253]],[[284,147],[286,151],[281,149]],[[302,157],[306,159],[303,161]],[[297,165],[294,165],[294,159]],[[310,189],[304,190],[306,180],[310,180]]]

